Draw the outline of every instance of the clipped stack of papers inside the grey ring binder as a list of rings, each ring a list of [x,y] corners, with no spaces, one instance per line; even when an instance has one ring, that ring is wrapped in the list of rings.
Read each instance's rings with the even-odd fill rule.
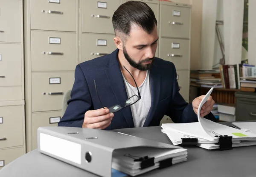
[[[150,156],[148,156],[148,163],[154,163],[154,165],[142,168],[142,161],[137,160],[147,157],[148,154],[150,154]],[[160,163],[165,160],[167,160],[166,163],[169,163],[166,165],[169,166],[170,164],[186,161],[186,157],[187,149],[185,148],[123,148],[113,151],[112,168],[131,176],[137,176],[153,169],[161,168]]]

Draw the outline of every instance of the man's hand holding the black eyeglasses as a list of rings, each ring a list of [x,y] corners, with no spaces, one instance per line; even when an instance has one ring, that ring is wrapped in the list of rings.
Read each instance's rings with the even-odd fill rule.
[[[84,114],[84,123],[82,127],[104,129],[111,124],[113,117],[114,114],[109,113],[108,108],[86,111]]]

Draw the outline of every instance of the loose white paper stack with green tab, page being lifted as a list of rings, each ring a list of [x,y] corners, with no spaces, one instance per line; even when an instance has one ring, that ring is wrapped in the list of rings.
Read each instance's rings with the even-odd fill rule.
[[[223,136],[230,137],[232,147],[256,145],[256,134],[252,131],[225,126],[200,116],[201,108],[209,98],[212,89],[209,90],[199,105],[198,122],[162,124],[162,132],[167,134],[174,145],[182,144],[183,139],[181,138],[197,138],[197,146],[216,149],[220,148],[219,141]]]

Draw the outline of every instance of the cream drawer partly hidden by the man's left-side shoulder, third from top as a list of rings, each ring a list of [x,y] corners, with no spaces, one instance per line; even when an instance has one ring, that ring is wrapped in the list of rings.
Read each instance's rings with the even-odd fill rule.
[[[73,83],[74,72],[32,73],[32,112],[61,110],[63,96]]]

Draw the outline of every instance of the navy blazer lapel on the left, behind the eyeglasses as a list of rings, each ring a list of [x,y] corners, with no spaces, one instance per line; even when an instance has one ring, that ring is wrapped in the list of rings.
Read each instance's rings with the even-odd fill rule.
[[[124,106],[125,100],[128,99],[128,96],[126,93],[125,83],[122,77],[120,66],[117,60],[118,51],[119,50],[116,49],[115,51],[113,51],[112,54],[110,54],[110,57],[108,57],[106,63],[108,69],[105,70],[105,73],[108,77],[108,81],[113,90],[113,94],[115,95],[116,104]],[[134,127],[133,117],[131,114],[131,107],[127,106],[126,108],[123,108],[120,111],[122,111],[122,114],[124,115],[129,128]]]

